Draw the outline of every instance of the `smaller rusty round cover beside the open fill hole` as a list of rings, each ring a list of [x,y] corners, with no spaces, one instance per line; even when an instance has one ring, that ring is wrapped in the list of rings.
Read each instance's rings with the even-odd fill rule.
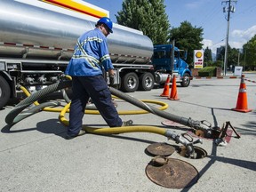
[[[154,143],[148,146],[147,151],[153,156],[171,156],[175,148],[168,143]]]

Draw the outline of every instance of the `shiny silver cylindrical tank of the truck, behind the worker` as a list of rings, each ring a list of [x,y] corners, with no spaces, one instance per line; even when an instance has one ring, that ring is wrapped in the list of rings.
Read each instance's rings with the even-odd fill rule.
[[[86,16],[80,19],[13,0],[1,0],[0,7],[2,58],[69,60],[76,39],[95,28],[95,20]],[[153,53],[148,36],[117,24],[113,31],[108,36],[113,62],[148,63]]]

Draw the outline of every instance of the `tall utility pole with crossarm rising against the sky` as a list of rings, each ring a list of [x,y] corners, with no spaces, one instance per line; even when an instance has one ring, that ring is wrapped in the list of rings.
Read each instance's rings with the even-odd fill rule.
[[[235,12],[236,8],[231,3],[236,4],[237,0],[224,0],[221,4],[225,4],[223,7],[223,12],[228,12],[227,20],[227,34],[226,34],[226,45],[225,45],[225,56],[224,56],[224,76],[227,73],[227,66],[228,66],[228,35],[229,35],[229,20],[230,20],[230,12]]]

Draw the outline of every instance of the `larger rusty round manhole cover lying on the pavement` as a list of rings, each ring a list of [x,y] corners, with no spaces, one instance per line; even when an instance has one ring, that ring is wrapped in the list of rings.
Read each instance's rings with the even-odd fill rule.
[[[146,167],[148,179],[164,188],[189,188],[199,179],[192,164],[173,158],[167,158],[167,161],[164,165],[151,161]]]

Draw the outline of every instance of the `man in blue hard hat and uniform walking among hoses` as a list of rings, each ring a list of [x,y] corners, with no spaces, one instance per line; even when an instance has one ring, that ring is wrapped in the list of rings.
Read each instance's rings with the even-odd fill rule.
[[[90,98],[109,127],[132,125],[132,120],[123,122],[118,116],[103,74],[103,69],[108,71],[110,85],[113,85],[115,72],[107,44],[107,36],[113,33],[113,23],[108,17],[103,17],[95,27],[77,39],[73,56],[65,71],[66,75],[72,76],[73,92],[67,140],[85,133],[82,130],[82,119]]]

